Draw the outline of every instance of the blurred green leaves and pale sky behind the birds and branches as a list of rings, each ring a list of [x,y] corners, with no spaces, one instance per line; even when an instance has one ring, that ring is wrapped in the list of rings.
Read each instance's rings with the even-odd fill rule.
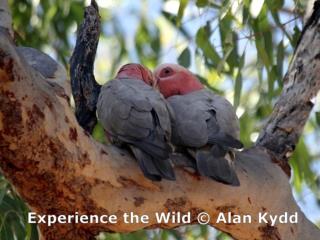
[[[81,0],[10,0],[18,44],[48,53],[65,64],[82,21]],[[233,102],[246,147],[279,96],[307,7],[304,0],[109,0],[97,1],[102,19],[95,75],[103,84],[120,65],[163,62],[190,68],[210,89]],[[294,196],[320,226],[319,99],[291,157]],[[101,138],[101,128],[94,135]],[[0,239],[38,239],[27,223],[28,208],[0,177]],[[97,239],[231,239],[207,226],[101,233]]]

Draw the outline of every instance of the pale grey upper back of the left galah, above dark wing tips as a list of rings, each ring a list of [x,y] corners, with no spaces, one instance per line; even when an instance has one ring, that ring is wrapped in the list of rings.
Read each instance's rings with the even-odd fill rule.
[[[160,93],[139,79],[115,79],[102,88],[97,104],[98,118],[111,133],[146,137],[153,128],[152,110],[170,136],[171,124]]]

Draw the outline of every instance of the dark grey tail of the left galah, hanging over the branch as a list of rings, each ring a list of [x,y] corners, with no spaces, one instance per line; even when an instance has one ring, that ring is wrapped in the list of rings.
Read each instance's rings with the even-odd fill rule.
[[[137,147],[130,146],[138,164],[145,175],[152,181],[161,181],[162,178],[175,180],[175,174],[169,159],[154,159]]]

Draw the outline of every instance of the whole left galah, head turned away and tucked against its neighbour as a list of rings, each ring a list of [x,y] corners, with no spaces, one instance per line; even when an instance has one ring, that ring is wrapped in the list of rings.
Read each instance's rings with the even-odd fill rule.
[[[102,86],[97,116],[113,143],[131,149],[145,177],[175,180],[169,160],[171,115],[153,84],[152,72],[144,66],[122,66]]]

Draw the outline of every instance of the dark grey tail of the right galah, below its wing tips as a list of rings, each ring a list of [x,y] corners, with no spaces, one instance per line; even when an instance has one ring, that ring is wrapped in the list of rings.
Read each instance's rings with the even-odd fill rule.
[[[240,186],[235,170],[228,160],[215,156],[212,151],[197,151],[197,169],[202,176],[210,177],[218,182],[232,186]]]

